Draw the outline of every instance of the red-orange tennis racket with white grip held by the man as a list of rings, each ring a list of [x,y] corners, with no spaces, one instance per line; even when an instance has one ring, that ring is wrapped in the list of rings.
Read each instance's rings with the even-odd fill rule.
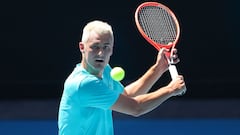
[[[157,2],[144,2],[135,12],[135,23],[141,35],[158,51],[167,48],[171,78],[178,76],[173,64],[173,48],[180,36],[180,26],[174,13],[165,5]]]

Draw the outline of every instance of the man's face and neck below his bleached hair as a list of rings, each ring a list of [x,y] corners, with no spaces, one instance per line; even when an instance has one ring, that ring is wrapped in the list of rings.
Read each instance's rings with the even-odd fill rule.
[[[83,67],[93,75],[101,77],[113,52],[113,37],[110,34],[98,35],[91,32],[87,43],[82,44]]]

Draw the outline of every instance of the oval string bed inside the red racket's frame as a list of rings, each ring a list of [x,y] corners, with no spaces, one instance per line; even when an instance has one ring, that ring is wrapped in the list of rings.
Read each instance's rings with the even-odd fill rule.
[[[159,44],[174,42],[177,27],[172,16],[160,7],[144,7],[138,14],[143,31]]]

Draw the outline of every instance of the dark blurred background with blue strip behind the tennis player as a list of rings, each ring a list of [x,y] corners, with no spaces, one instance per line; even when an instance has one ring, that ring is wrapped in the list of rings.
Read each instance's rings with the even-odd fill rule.
[[[57,134],[63,83],[80,62],[78,42],[89,21],[112,25],[115,48],[110,64],[125,69],[122,83],[139,78],[158,53],[135,26],[134,13],[142,2],[0,2],[0,132]],[[114,113],[116,134],[239,134],[239,2],[157,2],[170,7],[179,19],[177,68],[188,91],[139,118]],[[152,91],[169,81],[166,72]]]

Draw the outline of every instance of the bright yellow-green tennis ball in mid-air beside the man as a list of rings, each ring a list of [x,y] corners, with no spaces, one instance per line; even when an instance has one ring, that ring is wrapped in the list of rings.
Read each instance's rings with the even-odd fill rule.
[[[111,70],[110,75],[113,80],[121,81],[125,76],[125,71],[121,67],[114,67]]]

